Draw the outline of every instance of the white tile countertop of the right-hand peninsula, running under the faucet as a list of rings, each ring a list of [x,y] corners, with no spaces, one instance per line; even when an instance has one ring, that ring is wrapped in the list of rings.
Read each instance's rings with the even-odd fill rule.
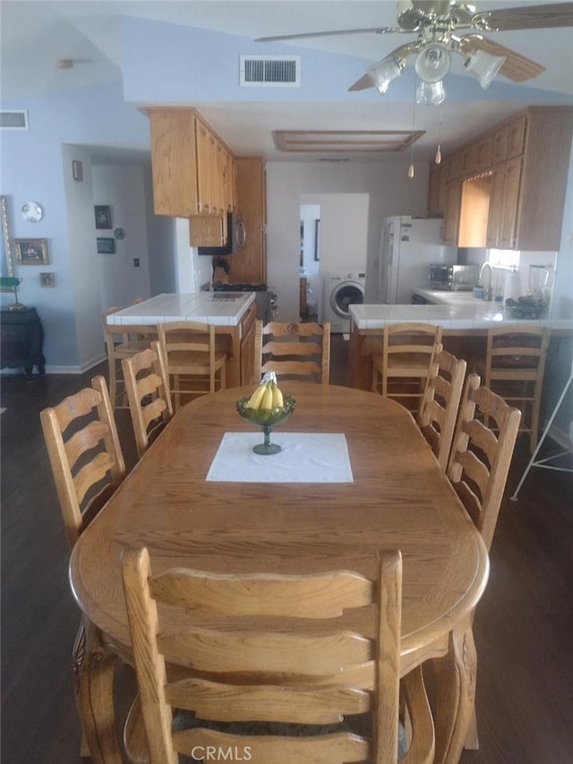
[[[473,292],[445,292],[415,289],[415,294],[438,305],[349,305],[356,327],[361,330],[381,329],[386,323],[439,323],[445,330],[484,330],[493,323],[529,324],[539,322],[553,330],[573,331],[573,319],[550,313],[543,319],[511,318],[501,303],[477,299]],[[569,333],[569,332],[568,332]]]

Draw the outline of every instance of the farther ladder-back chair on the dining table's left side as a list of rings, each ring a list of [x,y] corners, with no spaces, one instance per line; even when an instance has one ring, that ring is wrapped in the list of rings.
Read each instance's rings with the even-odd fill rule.
[[[158,340],[151,342],[149,350],[124,358],[122,369],[141,459],[173,416],[169,379]]]

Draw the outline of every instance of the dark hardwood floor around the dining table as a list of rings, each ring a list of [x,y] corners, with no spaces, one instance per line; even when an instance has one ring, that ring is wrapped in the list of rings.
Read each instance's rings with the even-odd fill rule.
[[[347,342],[334,335],[331,382],[347,384]],[[79,615],[68,546],[39,411],[90,384],[90,373],[3,377],[2,749],[5,764],[75,764],[80,730],[71,651]],[[116,420],[128,466],[136,459],[127,411]],[[547,443],[548,449],[552,445]],[[511,494],[529,453],[523,436]],[[569,461],[570,466],[570,461]],[[506,497],[488,588],[475,616],[479,751],[461,764],[573,760],[573,476],[534,468],[517,502]],[[133,689],[128,669],[118,695]]]

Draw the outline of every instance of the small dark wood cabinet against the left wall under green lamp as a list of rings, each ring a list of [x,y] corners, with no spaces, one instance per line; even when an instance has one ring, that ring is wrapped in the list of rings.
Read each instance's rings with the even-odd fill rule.
[[[31,379],[34,366],[38,373],[46,371],[44,328],[36,308],[20,311],[3,310],[0,314],[0,362],[2,368],[23,367],[26,379]]]

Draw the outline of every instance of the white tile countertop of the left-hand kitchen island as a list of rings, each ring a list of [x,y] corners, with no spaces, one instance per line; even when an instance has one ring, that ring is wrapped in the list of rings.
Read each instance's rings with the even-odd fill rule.
[[[215,326],[238,326],[255,299],[254,292],[241,292],[236,300],[213,298],[228,292],[197,292],[192,295],[164,294],[130,305],[107,316],[107,323],[148,326],[168,321],[200,321]],[[239,293],[237,293],[239,294]]]

